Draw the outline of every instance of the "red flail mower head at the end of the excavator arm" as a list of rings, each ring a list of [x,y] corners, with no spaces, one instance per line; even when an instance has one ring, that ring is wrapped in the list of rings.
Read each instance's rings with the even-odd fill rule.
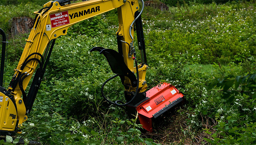
[[[161,83],[151,88],[146,92],[146,97],[150,99],[137,106],[136,110],[140,124],[149,132],[153,131],[152,118],[157,118],[183,100],[183,94],[169,83]]]

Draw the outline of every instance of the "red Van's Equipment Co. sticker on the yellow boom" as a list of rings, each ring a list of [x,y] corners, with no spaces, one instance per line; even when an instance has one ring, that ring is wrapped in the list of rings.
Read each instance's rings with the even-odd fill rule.
[[[62,11],[56,14],[50,15],[51,27],[59,27],[66,24],[69,24],[68,11]]]

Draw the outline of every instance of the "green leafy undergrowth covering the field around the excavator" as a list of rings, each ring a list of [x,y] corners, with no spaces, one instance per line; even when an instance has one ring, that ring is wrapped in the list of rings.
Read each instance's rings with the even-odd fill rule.
[[[9,19],[41,7],[25,5],[0,6],[2,29],[9,32]],[[148,88],[169,82],[186,99],[155,120],[153,134],[141,132],[136,117],[127,119],[101,97],[102,83],[114,74],[105,57],[89,50],[117,50],[116,13],[80,22],[56,40],[34,108],[17,137],[42,144],[256,144],[255,2],[190,2],[169,11],[145,7]],[[9,40],[5,86],[27,36]],[[105,93],[124,99],[118,79],[106,84]]]

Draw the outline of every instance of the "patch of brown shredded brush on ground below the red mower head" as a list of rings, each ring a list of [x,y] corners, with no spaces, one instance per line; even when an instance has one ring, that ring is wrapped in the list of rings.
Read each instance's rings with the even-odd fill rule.
[[[179,109],[185,113],[180,114],[177,112]],[[208,144],[203,138],[210,138],[211,134],[192,130],[190,126],[187,125],[187,122],[189,121],[188,113],[191,112],[186,112],[184,110],[184,106],[178,106],[174,109],[168,110],[166,113],[162,114],[153,121],[154,131],[152,133],[144,132],[142,137],[158,140],[162,145]],[[212,125],[210,126],[209,123]],[[202,128],[210,129],[209,131],[212,133],[215,132],[213,126],[216,124],[216,121],[211,118],[202,119]],[[198,130],[200,131],[201,129]]]

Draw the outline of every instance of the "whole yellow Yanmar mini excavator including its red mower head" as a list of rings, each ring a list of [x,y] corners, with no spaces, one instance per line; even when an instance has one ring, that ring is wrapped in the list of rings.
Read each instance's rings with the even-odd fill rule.
[[[12,136],[21,133],[19,128],[27,120],[27,114],[32,109],[56,38],[66,35],[68,28],[75,23],[116,8],[119,22],[116,32],[118,52],[103,47],[94,47],[90,50],[103,54],[116,74],[103,83],[101,94],[108,103],[125,106],[128,114],[138,113],[142,127],[152,132],[152,119],[180,103],[183,95],[169,83],[160,83],[146,91],[145,76],[149,66],[141,20],[144,2],[141,1],[141,11],[138,11],[138,0],[90,0],[74,4],[69,0],[55,0],[44,4],[41,10],[34,12],[36,16],[33,28],[25,40],[25,48],[7,89],[3,88],[6,38],[4,31],[0,29],[3,37],[0,68],[0,134]],[[137,62],[137,50],[134,46],[134,31],[137,34],[140,64]],[[25,89],[34,72],[31,86],[26,93]],[[104,95],[105,84],[117,76],[124,86],[126,103],[120,100],[110,101]]]

